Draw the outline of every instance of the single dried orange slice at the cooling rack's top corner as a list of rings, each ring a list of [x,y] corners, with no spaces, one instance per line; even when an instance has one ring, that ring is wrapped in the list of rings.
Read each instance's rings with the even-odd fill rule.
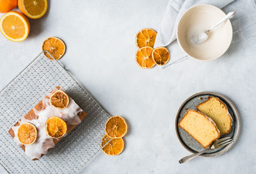
[[[43,51],[48,51],[54,59],[58,60],[64,55],[66,45],[60,38],[50,37],[44,41],[42,49]],[[52,59],[47,52],[45,52],[45,56]]]

